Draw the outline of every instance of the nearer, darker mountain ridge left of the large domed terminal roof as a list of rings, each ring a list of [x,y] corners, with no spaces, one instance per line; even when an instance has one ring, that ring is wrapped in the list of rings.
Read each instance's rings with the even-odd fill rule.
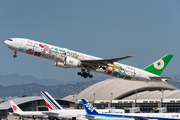
[[[68,95],[77,94],[97,82],[99,81],[92,80],[89,82],[78,82],[78,83],[66,84],[66,85],[59,84],[56,86],[45,86],[36,83],[11,85],[7,87],[2,86],[0,87],[0,98],[5,98],[9,96],[22,97],[24,95],[40,96],[41,91],[47,91],[55,98],[63,98]]]

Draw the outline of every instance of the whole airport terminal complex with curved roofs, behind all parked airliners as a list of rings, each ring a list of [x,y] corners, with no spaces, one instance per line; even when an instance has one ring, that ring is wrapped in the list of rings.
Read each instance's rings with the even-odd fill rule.
[[[51,93],[50,93],[51,94]],[[153,112],[166,107],[167,112],[180,112],[180,90],[166,82],[130,81],[119,78],[98,82],[79,94],[56,101],[62,107],[82,109],[81,98],[87,99],[97,109],[127,109],[139,107],[141,112]],[[23,111],[44,111],[46,104],[41,96],[13,99]],[[0,104],[0,119],[12,112],[9,101]]]

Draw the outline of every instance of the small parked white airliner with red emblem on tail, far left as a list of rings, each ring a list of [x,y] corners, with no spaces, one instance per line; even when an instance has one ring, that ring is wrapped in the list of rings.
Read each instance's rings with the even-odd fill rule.
[[[48,115],[44,114],[42,111],[22,111],[12,100],[10,104],[13,109],[13,113],[10,113],[10,115],[23,118],[48,118]]]

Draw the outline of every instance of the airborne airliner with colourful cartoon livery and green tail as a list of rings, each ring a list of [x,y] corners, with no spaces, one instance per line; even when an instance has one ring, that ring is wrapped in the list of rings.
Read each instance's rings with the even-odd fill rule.
[[[55,65],[60,68],[80,68],[81,72],[78,72],[78,75],[84,78],[92,78],[93,75],[90,72],[93,71],[126,80],[166,81],[172,79],[171,77],[160,77],[173,57],[171,54],[167,54],[144,69],[139,69],[117,62],[132,56],[102,59],[25,38],[10,38],[5,40],[4,43],[14,51],[14,57],[17,57],[17,51],[19,51],[53,60]]]

